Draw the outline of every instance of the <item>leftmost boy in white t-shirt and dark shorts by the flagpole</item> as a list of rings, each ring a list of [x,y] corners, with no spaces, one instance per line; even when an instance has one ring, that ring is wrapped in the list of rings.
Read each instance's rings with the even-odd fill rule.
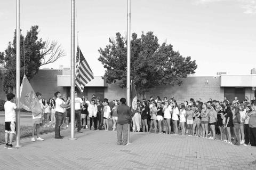
[[[13,136],[16,134],[16,113],[17,106],[15,104],[15,95],[8,93],[6,95],[7,101],[4,103],[4,122],[5,122],[5,146],[6,149],[16,149],[13,148],[12,140]],[[8,143],[9,139],[9,143]]]

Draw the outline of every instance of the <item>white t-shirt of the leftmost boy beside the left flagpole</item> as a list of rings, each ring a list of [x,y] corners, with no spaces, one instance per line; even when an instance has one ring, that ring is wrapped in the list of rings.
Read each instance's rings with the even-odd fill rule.
[[[15,110],[17,106],[15,103],[6,101],[4,103],[4,122],[16,122]]]

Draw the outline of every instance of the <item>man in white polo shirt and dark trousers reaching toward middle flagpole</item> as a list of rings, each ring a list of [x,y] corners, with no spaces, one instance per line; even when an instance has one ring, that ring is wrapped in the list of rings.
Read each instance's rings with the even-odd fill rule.
[[[60,92],[54,93],[54,96],[56,97],[55,100],[55,139],[62,139],[63,136],[60,135],[60,126],[63,120],[63,116],[65,113],[65,108],[68,108],[70,106],[69,101],[70,98],[66,101],[66,103],[61,99]]]

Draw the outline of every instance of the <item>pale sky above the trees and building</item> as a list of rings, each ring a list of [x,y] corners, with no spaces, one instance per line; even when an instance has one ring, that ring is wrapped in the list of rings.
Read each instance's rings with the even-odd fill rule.
[[[58,41],[66,56],[44,68],[70,67],[69,0],[21,0],[21,33],[39,26],[39,37]],[[76,0],[79,47],[94,76],[103,76],[99,48],[116,32],[126,34],[126,0]],[[131,31],[154,31],[196,60],[195,75],[250,74],[256,68],[256,0],[131,0]],[[13,39],[15,0],[0,1],[0,51]],[[76,35],[77,40],[77,35]],[[76,44],[77,46],[77,44]]]

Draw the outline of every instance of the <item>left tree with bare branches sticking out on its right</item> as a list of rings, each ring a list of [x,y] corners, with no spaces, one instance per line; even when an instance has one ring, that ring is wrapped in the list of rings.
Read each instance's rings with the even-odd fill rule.
[[[20,35],[21,79],[26,72],[30,80],[37,74],[39,67],[57,61],[65,55],[57,42],[43,41],[42,38],[38,38],[38,33],[38,26],[32,26],[27,31],[26,37]],[[4,71],[4,76],[1,77],[4,82],[4,91],[12,92],[13,87],[16,86],[16,30],[13,43],[9,42],[5,52],[0,52],[0,64]]]

